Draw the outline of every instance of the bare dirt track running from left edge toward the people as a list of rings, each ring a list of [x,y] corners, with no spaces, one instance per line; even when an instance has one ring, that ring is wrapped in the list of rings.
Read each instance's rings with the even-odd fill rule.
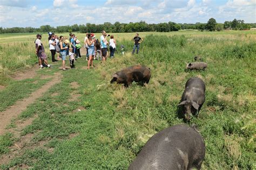
[[[29,104],[35,102],[37,98],[42,97],[43,94],[54,84],[59,83],[60,78],[60,73],[56,73],[50,82],[44,84],[44,86],[34,91],[28,98],[25,98],[22,101],[18,101],[9,109],[0,112],[0,135],[8,131],[4,128],[6,127],[6,125],[11,123],[12,118],[17,117],[19,114],[21,114],[23,110],[26,109],[26,107],[28,107]]]

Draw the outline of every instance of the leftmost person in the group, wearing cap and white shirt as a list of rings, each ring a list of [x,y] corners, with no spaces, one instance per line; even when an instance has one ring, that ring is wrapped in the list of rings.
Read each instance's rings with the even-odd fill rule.
[[[48,61],[46,60],[47,56],[44,53],[44,46],[43,46],[43,44],[41,42],[42,35],[41,34],[37,34],[36,38],[37,38],[36,41],[35,41],[35,44],[36,44],[36,55],[38,56],[40,68],[43,68],[42,61],[44,61],[44,63],[49,68],[51,66],[48,64]]]

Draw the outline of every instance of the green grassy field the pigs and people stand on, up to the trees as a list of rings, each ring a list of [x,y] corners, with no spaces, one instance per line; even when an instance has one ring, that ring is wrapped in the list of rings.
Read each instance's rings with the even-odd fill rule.
[[[84,34],[77,36],[83,40]],[[154,133],[184,123],[176,115],[177,104],[185,82],[198,76],[206,83],[206,101],[191,123],[198,125],[206,143],[202,169],[255,169],[256,31],[142,32],[145,41],[138,55],[130,53],[134,33],[114,36],[118,49],[125,45],[124,56],[117,51],[114,59],[104,64],[96,61],[91,70],[84,69],[84,58],[78,59],[76,69],[65,72],[55,63],[51,69],[37,70],[32,79],[17,81],[6,74],[37,61],[35,35],[0,35],[0,63],[5,73],[1,111],[51,81],[38,80],[41,75],[59,72],[63,76],[10,122],[7,128],[11,131],[17,121],[35,118],[18,137],[12,132],[0,136],[0,159],[14,155],[1,168],[126,169]],[[50,56],[46,39],[43,35]],[[187,72],[185,62],[193,61],[195,55],[208,68]],[[110,84],[113,73],[138,63],[151,68],[148,86]],[[26,90],[19,90],[23,87]],[[14,154],[11,148],[25,137],[30,139]]]

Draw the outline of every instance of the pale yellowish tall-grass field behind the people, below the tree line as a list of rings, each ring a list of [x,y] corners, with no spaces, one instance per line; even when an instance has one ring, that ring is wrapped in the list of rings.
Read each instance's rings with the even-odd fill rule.
[[[58,36],[69,37],[69,33],[56,33]],[[130,40],[130,45],[132,46],[132,39],[134,33],[110,33],[114,35],[114,38],[118,42],[118,48],[120,47],[120,42],[124,40]],[[140,37],[145,37],[147,35],[163,35],[163,36],[173,36],[173,35],[185,35],[187,38],[192,37],[212,37],[217,39],[229,40],[231,43],[234,40],[242,41],[255,41],[256,31],[221,31],[221,32],[200,32],[200,31],[178,31],[178,32],[140,32]],[[78,39],[84,44],[85,34],[76,33]],[[100,33],[96,33],[96,37],[99,38]],[[28,67],[33,63],[37,62],[37,56],[35,54],[35,44],[36,33],[24,33],[24,34],[0,34],[0,74],[11,74],[12,70],[16,70],[23,67]],[[43,34],[42,42],[45,46],[46,54],[50,57],[49,44],[48,44],[48,34]],[[122,44],[122,43],[121,43]],[[129,49],[131,51],[131,49]]]

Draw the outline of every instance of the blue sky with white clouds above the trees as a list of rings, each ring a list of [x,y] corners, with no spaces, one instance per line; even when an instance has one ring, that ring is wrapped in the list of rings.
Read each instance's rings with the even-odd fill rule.
[[[256,0],[0,0],[0,27],[73,24],[256,23]]]

